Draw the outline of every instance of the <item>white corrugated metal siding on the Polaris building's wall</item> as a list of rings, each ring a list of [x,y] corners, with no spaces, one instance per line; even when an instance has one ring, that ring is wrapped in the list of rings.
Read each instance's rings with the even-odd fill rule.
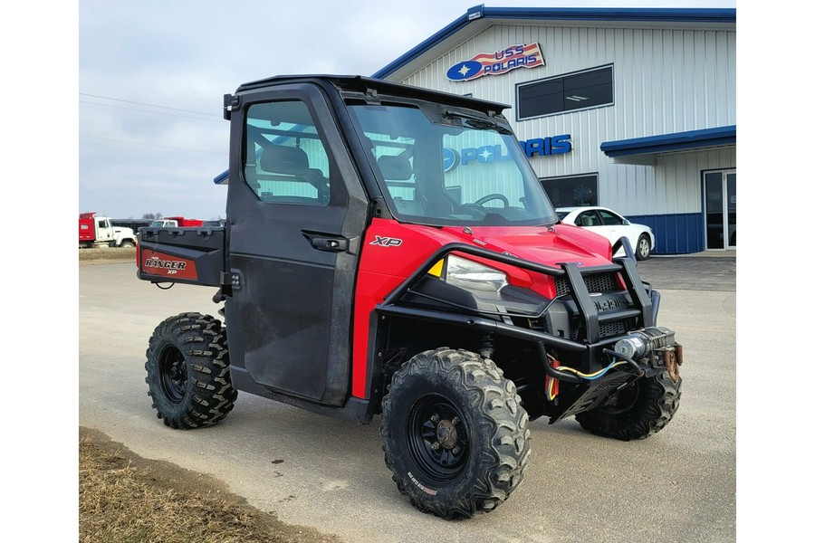
[[[447,69],[456,62],[533,42],[541,44],[545,67],[469,82],[446,79]],[[519,139],[571,135],[570,153],[533,157],[532,167],[541,177],[598,173],[599,203],[622,214],[697,213],[701,211],[699,172],[713,163],[735,167],[733,148],[660,157],[662,163],[655,168],[615,164],[599,146],[604,141],[736,124],[735,46],[734,31],[498,24],[429,62],[404,82],[514,104],[520,82],[611,63],[613,106],[523,121],[514,120],[514,110],[505,112]],[[657,175],[661,167],[666,171]],[[681,220],[676,220],[678,227]],[[682,236],[676,234],[677,246],[684,243]]]

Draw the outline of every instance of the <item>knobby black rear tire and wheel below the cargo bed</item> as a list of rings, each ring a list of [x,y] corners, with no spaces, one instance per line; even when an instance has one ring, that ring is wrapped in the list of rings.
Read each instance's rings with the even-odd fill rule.
[[[146,356],[148,395],[164,424],[211,426],[232,411],[237,391],[220,320],[201,313],[165,319],[153,331]]]

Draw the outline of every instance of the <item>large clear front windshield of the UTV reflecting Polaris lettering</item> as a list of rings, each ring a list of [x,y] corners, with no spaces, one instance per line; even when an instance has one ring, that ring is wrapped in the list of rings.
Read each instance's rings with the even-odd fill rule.
[[[463,226],[558,221],[512,132],[495,120],[409,105],[349,109],[370,142],[379,184],[398,220]]]

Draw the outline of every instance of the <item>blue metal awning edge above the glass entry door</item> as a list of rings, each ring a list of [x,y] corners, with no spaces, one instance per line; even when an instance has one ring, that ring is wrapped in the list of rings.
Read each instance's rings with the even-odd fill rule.
[[[716,129],[690,130],[662,136],[649,136],[647,138],[606,141],[600,144],[600,150],[607,157],[627,157],[630,155],[647,155],[649,153],[735,145],[735,142],[736,128],[733,125]]]

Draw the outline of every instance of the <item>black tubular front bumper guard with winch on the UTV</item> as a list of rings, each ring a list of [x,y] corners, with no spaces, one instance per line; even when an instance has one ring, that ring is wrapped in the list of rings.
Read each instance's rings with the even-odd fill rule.
[[[496,300],[481,303],[471,297],[467,305],[458,296],[452,301],[454,295],[446,296],[445,290],[457,287],[427,278],[427,271],[450,252],[472,254],[549,275],[555,281],[558,296],[545,300],[531,291],[525,297],[523,292],[507,291],[503,300],[499,300],[506,306],[501,308],[502,316],[494,312]],[[615,286],[613,291],[597,292],[594,283],[603,274],[618,274],[624,289]],[[532,346],[528,350],[545,371],[545,386],[549,386],[550,380],[562,384],[557,387],[560,394],[547,399],[545,411],[553,423],[599,405],[616,389],[642,376],[667,371],[678,380],[682,346],[674,341],[672,330],[656,327],[659,300],[659,293],[639,278],[636,262],[631,258],[615,259],[593,268],[580,268],[570,262],[553,267],[453,243],[427,259],[376,307],[376,312],[381,317],[425,320],[467,329],[484,338],[505,338]],[[490,306],[493,311],[485,309]],[[647,348],[637,353],[630,349],[620,351],[615,346],[626,338],[629,342],[645,338]],[[539,386],[542,389],[544,384]]]

